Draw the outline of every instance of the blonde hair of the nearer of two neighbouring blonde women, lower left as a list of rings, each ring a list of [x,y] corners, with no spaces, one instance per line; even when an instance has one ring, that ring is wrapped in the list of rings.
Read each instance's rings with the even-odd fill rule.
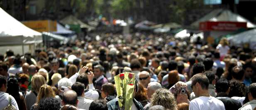
[[[49,97],[52,97],[52,98],[55,97],[54,90],[51,88],[51,86],[44,84],[43,86],[40,87],[40,91],[37,96],[37,103],[39,103],[41,99],[49,98]]]

